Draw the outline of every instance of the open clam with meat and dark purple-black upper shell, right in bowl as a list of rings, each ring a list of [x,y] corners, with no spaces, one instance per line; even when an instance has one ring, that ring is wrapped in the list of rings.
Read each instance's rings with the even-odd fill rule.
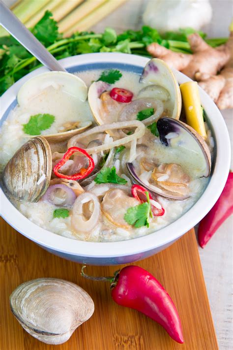
[[[149,171],[139,175],[133,163],[126,163],[134,182],[144,186],[155,195],[169,199],[184,200],[190,197],[190,176],[185,168],[191,169],[192,178],[208,177],[211,171],[211,155],[204,139],[187,124],[173,118],[160,118],[157,122],[160,142],[164,153],[180,164],[149,164]],[[147,164],[146,163],[146,164]],[[153,169],[152,169],[152,168]],[[149,177],[148,177],[149,175]]]

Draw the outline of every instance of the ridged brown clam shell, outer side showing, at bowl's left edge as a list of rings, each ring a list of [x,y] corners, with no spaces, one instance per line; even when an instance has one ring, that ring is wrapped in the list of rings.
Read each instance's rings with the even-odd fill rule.
[[[3,184],[15,199],[37,202],[47,190],[52,173],[48,141],[37,136],[25,143],[3,171]]]

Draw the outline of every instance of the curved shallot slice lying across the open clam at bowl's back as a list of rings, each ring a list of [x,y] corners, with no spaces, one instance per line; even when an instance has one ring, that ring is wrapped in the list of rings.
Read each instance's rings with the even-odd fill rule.
[[[161,117],[164,106],[162,101],[155,101],[154,98],[139,98],[134,100],[133,102],[127,104],[120,112],[120,115],[118,117],[118,120],[128,121],[128,120],[134,120],[137,118],[137,114],[147,108],[153,108],[155,110],[155,113],[145,120],[142,121],[144,125],[150,125],[153,122],[156,122],[159,117]]]

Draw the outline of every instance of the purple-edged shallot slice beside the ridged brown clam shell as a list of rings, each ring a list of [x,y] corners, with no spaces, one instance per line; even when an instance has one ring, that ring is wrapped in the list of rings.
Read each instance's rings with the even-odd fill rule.
[[[41,200],[58,207],[71,206],[74,204],[76,195],[69,187],[63,184],[52,185],[41,197]]]

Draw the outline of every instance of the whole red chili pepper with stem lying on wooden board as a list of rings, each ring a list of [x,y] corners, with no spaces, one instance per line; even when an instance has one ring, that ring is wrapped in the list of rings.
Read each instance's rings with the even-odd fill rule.
[[[164,287],[145,269],[130,265],[116,271],[115,277],[91,277],[90,280],[109,281],[112,298],[122,306],[138,310],[158,322],[176,342],[183,343],[180,319],[175,305]]]

